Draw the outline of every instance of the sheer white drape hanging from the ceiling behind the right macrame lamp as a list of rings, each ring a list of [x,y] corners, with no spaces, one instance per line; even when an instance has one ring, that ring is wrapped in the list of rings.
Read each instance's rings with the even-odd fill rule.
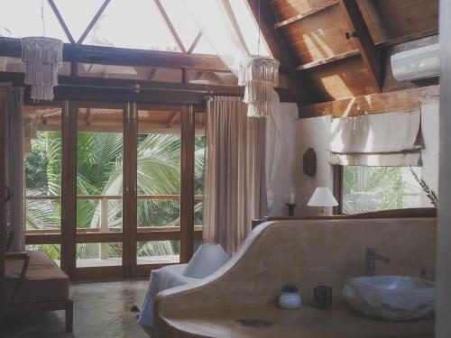
[[[235,20],[230,1],[184,0],[184,3],[217,55],[237,77],[240,61],[250,55],[250,49],[246,46],[243,34]],[[284,118],[280,98],[275,90],[272,93],[271,110],[272,114],[266,123],[265,148],[268,209],[272,207],[274,183],[280,165],[281,119]]]

